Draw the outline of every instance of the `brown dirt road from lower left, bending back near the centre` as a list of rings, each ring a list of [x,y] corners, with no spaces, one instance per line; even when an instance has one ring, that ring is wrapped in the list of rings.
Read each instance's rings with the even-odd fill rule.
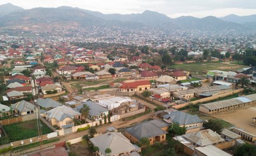
[[[151,109],[156,107],[155,105],[149,104],[148,102],[143,101],[139,98],[134,97],[134,99],[142,102],[142,104],[145,104],[146,106],[148,106]],[[136,118],[136,119],[133,119],[133,120],[129,120],[129,121],[118,120],[118,121],[112,122],[111,124],[107,124],[107,125],[103,125],[103,126],[98,127],[97,132],[98,133],[106,133],[107,127],[110,127],[110,126],[114,126],[117,129],[128,127],[128,126],[133,125],[134,123],[139,123],[139,122],[142,122],[145,119],[152,118],[153,115],[154,115],[154,111],[150,112],[149,114],[140,116],[139,118]],[[59,136],[59,139],[60,139],[59,141],[56,141],[56,142],[50,143],[50,144],[45,144],[45,145],[43,145],[43,148],[47,148],[47,147],[50,147],[50,146],[54,146],[57,143],[63,143],[65,141],[68,141],[68,140],[71,140],[71,139],[82,137],[86,134],[88,134],[88,130],[83,131],[83,132],[75,132],[75,133],[68,134],[68,135],[65,135],[65,136]],[[29,150],[21,151],[19,153],[12,153],[12,155],[21,155],[23,153],[30,153],[31,151],[36,151],[36,150],[39,150],[39,149],[40,149],[40,147],[34,147],[34,148],[30,148]]]

